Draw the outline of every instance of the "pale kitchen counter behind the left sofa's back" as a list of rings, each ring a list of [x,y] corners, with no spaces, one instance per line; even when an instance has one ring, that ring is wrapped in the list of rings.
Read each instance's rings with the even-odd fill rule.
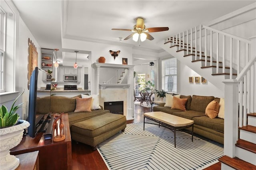
[[[74,97],[80,94],[91,94],[90,90],[64,90],[64,89],[56,89],[56,90],[45,90],[45,89],[37,89],[37,97],[46,97],[51,95],[56,95],[56,96],[65,96],[65,97]]]

